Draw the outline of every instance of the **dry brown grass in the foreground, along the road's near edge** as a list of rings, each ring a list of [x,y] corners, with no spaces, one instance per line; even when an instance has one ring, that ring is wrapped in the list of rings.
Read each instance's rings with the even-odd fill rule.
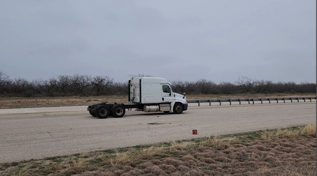
[[[0,164],[0,176],[316,176],[316,124]]]

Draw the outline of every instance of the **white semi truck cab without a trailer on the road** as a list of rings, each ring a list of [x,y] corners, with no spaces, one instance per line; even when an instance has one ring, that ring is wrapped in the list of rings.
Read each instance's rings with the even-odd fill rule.
[[[144,112],[173,112],[181,114],[187,110],[188,104],[184,95],[174,93],[171,84],[164,78],[136,77],[129,80],[129,101],[131,104],[99,103],[88,106],[92,116],[104,119],[109,115],[123,117],[125,109]]]

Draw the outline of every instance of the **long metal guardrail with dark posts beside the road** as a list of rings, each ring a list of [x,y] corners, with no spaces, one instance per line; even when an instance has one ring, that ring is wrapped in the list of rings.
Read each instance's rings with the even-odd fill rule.
[[[299,102],[299,100],[304,100],[304,102],[306,102],[306,100],[310,100],[310,102],[312,102],[312,99],[316,99],[316,97],[304,97],[304,98],[252,98],[252,99],[210,99],[210,100],[187,100],[187,103],[198,103],[198,106],[200,106],[200,103],[209,103],[209,106],[211,106],[212,102],[217,102],[219,103],[219,105],[221,106],[221,102],[230,102],[230,105],[232,102],[239,102],[239,105],[241,105],[241,102],[243,101],[248,101],[249,104],[252,102],[252,104],[254,104],[255,101],[261,101],[261,104],[263,104],[263,101],[268,101],[268,103],[271,103],[271,101],[276,101],[276,103],[278,103],[278,101],[283,101],[285,103],[286,100],[291,100],[291,103],[293,102],[293,100],[297,100],[297,102]]]

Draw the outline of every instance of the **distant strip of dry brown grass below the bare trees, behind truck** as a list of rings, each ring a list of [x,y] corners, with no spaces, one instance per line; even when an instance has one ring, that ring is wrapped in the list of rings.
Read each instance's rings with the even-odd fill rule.
[[[246,99],[246,98],[283,98],[283,97],[316,97],[314,93],[307,94],[217,94],[217,95],[186,95],[187,100],[203,99]],[[96,103],[128,103],[127,96],[69,96],[69,97],[11,97],[0,98],[0,108],[31,108],[56,106],[88,106]]]

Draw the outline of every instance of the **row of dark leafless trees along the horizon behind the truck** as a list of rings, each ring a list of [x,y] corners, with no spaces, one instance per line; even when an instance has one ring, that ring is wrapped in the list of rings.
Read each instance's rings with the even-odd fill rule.
[[[129,75],[153,77],[151,75]],[[239,77],[234,83],[201,79],[196,82],[171,81],[174,92],[186,94],[239,94],[239,93],[316,93],[316,83],[272,82]],[[59,75],[49,80],[28,81],[23,78],[10,79],[0,72],[1,97],[47,97],[47,96],[91,96],[127,95],[128,82],[114,82],[109,76]]]

